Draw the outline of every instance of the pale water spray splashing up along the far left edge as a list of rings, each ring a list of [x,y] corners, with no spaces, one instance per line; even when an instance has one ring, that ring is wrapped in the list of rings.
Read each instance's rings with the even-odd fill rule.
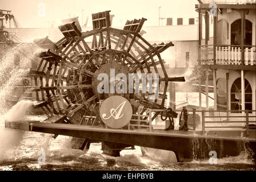
[[[33,44],[19,44],[4,51],[0,61],[0,160],[8,158],[23,137],[24,131],[5,129],[5,120],[22,121],[33,102],[19,101],[8,111],[7,100],[31,68],[31,59],[39,49]]]

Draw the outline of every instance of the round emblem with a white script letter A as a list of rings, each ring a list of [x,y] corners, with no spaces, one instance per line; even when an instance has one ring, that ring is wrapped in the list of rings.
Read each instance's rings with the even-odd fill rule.
[[[133,109],[126,98],[111,96],[102,102],[99,114],[107,126],[119,129],[130,122]]]

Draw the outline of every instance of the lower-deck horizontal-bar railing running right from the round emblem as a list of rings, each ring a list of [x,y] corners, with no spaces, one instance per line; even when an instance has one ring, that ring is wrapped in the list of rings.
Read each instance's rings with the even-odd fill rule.
[[[132,118],[130,119],[130,122],[123,129],[128,129],[128,130],[134,130],[135,129],[135,130],[137,130],[137,129],[144,128],[144,129],[146,129],[147,131],[149,131],[151,133],[151,132],[153,132],[152,122],[154,121],[154,119],[152,119],[153,118],[152,116],[155,113],[166,111],[166,109],[147,108],[145,110],[145,113],[141,113],[141,111],[138,111],[138,114],[132,114]],[[182,110],[173,110],[173,111],[175,111],[177,113],[178,112],[181,113]],[[240,115],[218,115],[218,116],[217,115],[206,114],[206,113],[223,113],[223,114],[225,114],[225,113],[229,113],[230,111],[240,111],[240,112],[242,111],[242,112],[244,112],[244,114],[239,113]],[[249,112],[252,112],[252,113],[249,113]],[[192,122],[190,122],[190,125],[193,125],[193,130],[194,131],[196,131],[196,127],[197,127],[197,125],[196,125],[196,116],[197,116],[196,113],[201,113],[202,114],[201,115],[202,116],[202,118],[201,118],[202,130],[200,130],[202,132],[202,134],[206,133],[206,129],[243,128],[243,129],[245,129],[245,135],[249,136],[249,132],[250,132],[249,123],[255,123],[255,125],[256,125],[256,121],[249,121],[250,118],[256,118],[256,110],[228,110],[228,111],[223,110],[222,111],[222,110],[187,109],[187,113],[192,116],[192,117],[190,117],[192,119]],[[206,121],[206,118],[220,118],[220,119],[221,118],[244,118],[244,119],[241,119],[241,121],[230,121],[230,120],[223,121],[222,119],[221,119],[221,121],[214,121],[214,120],[213,121]],[[155,118],[155,119],[157,119],[157,118]],[[222,123],[222,126],[218,126],[218,125],[210,126],[209,125],[210,123],[211,124]],[[223,123],[241,123],[241,125],[240,126],[237,126],[237,125],[223,126]],[[246,125],[244,125],[244,123],[246,123]],[[131,126],[133,126],[133,127],[131,128]],[[155,120],[154,126],[163,126],[163,125],[162,124],[158,125],[157,120]],[[106,128],[107,128],[107,126],[106,126]],[[190,130],[192,130],[192,129],[190,129]]]

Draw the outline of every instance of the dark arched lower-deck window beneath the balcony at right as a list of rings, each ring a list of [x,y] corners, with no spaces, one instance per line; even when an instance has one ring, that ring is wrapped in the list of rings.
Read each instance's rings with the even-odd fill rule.
[[[231,110],[242,110],[241,78],[237,78],[230,90]],[[245,110],[252,110],[252,92],[249,81],[245,79]],[[234,111],[237,112],[237,111]]]

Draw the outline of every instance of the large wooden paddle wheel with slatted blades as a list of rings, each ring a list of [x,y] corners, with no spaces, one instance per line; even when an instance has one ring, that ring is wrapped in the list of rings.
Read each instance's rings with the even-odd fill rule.
[[[30,72],[38,101],[35,107],[41,107],[47,115],[46,122],[101,126],[101,101],[113,95],[129,100],[133,113],[143,114],[147,108],[163,109],[168,82],[185,81],[184,77],[167,76],[160,55],[174,46],[173,43],[151,45],[143,39],[141,29],[145,18],[127,20],[123,30],[113,28],[109,13],[92,14],[91,31],[82,32],[78,21],[74,21],[59,26],[64,37],[58,42],[53,43],[48,38],[35,41],[39,47],[47,49],[38,55],[37,69]],[[163,92],[154,100],[149,99],[149,93],[142,93],[141,90],[139,93],[98,93],[98,75],[109,75],[110,69],[115,69],[115,75],[158,73]],[[153,119],[158,114],[156,112]],[[81,149],[91,142],[83,140]],[[103,143],[103,148],[115,145],[107,141]]]

